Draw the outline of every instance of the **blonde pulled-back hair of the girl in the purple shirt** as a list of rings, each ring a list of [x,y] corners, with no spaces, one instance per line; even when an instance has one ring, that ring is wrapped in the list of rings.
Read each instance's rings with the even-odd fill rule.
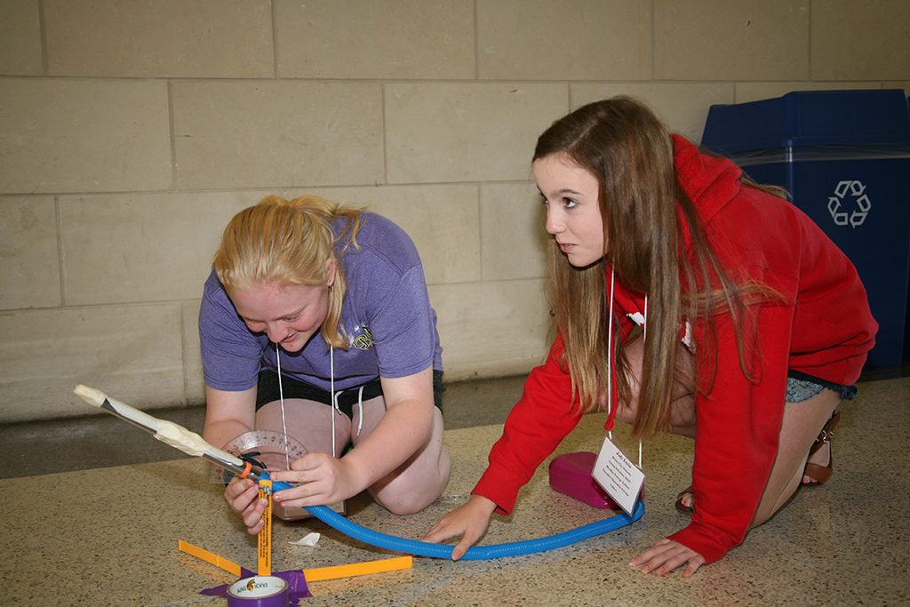
[[[321,286],[329,278],[326,262],[333,259],[335,281],[329,288],[329,312],[319,330],[326,343],[348,349],[348,335],[341,326],[341,303],[348,283],[340,258],[349,245],[357,248],[359,210],[316,196],[265,197],[227,224],[212,262],[217,278],[228,295],[263,285]],[[338,218],[348,221],[336,237],[330,224]],[[344,247],[336,250],[336,243],[346,237]]]

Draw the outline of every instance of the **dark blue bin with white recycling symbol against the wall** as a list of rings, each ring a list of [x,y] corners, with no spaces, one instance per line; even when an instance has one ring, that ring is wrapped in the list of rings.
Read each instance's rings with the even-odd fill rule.
[[[878,321],[865,369],[910,356],[910,104],[904,90],[794,92],[712,106],[702,138],[785,187],[853,262]]]

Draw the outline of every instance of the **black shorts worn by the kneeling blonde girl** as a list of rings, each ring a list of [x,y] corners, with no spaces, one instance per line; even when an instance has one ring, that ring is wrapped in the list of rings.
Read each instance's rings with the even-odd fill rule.
[[[355,388],[336,390],[338,397],[339,410],[347,415],[349,419],[354,417],[354,405],[362,400],[375,399],[382,396],[382,385],[379,379],[374,379],[365,383],[363,394],[360,393],[361,386]],[[433,369],[433,404],[442,411],[442,392],[446,390],[445,384],[442,383],[442,371]],[[286,399],[303,399],[315,400],[324,405],[332,404],[332,395],[328,390],[311,386],[298,379],[289,378],[287,375],[281,378],[281,387],[278,388],[278,373],[272,369],[262,369],[259,371],[258,387],[256,391],[256,410],[262,409],[264,405],[275,400],[281,400],[281,394]]]

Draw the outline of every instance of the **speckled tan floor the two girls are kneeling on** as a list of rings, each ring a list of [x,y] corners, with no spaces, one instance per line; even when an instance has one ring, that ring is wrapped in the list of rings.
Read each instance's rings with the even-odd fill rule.
[[[688,484],[692,445],[668,436],[645,444],[647,511],[628,527],[555,551],[493,561],[419,557],[403,572],[314,582],[310,590],[315,597],[302,604],[908,604],[910,378],[864,381],[860,397],[841,410],[832,480],[797,492],[742,546],[692,579],[679,573],[646,576],[628,566],[632,556],[685,524],[672,500]],[[602,422],[602,414],[587,416],[557,453],[597,450]],[[132,434],[127,440],[156,443],[140,430],[119,430]],[[500,433],[498,423],[447,430],[452,477],[427,511],[397,518],[369,499],[357,498],[349,501],[349,518],[419,539],[442,513],[467,499]],[[614,436],[634,448],[622,430]],[[47,457],[53,459],[54,453]],[[0,480],[5,506],[0,604],[227,604],[197,592],[233,579],[177,550],[178,540],[189,541],[256,567],[255,538],[245,533],[227,510],[220,488],[206,478],[204,461],[180,458]],[[603,514],[551,491],[544,466],[522,490],[511,517],[494,517],[482,543],[550,535]],[[322,533],[316,547],[288,544],[309,531]],[[275,521],[273,536],[274,571],[397,555],[313,520]]]

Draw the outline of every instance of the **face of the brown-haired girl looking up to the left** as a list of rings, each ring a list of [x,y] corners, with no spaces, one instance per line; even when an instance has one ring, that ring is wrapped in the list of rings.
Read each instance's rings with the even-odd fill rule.
[[[607,252],[597,178],[559,154],[532,165],[534,180],[547,206],[547,231],[569,263],[584,268]]]

